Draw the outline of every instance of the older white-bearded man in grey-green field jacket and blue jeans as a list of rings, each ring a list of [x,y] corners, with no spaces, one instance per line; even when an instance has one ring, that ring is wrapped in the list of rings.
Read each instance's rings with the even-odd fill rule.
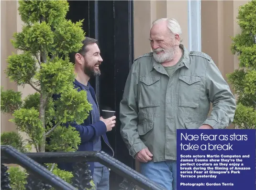
[[[176,130],[225,129],[235,99],[211,57],[180,43],[177,20],[154,21],[149,40],[153,52],[134,60],[125,84],[121,135],[141,173],[176,190]]]

